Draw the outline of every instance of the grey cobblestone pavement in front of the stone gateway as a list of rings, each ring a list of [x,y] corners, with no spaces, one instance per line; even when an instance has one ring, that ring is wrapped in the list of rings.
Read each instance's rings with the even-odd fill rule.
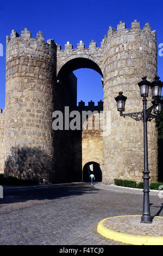
[[[0,199],[0,245],[122,245],[97,233],[104,218],[141,215],[142,195],[71,183],[5,189]],[[151,197],[152,216],[163,199]]]

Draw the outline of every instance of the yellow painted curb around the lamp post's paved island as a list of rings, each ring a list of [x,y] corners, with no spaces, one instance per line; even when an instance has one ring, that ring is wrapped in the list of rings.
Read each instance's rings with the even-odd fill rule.
[[[130,217],[130,216],[140,216],[140,215],[124,215],[124,216],[116,216],[110,218],[118,218],[118,217]],[[157,218],[163,218],[160,216],[156,216]],[[106,228],[103,223],[106,221],[105,218],[102,219],[97,225],[97,232],[102,236],[105,236],[108,239],[112,239],[114,241],[129,243],[130,245],[163,245],[163,236],[137,236],[130,235],[125,233],[116,232],[114,230]]]

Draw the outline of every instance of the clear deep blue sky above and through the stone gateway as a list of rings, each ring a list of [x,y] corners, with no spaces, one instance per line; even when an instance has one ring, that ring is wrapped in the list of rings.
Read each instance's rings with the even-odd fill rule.
[[[156,30],[158,45],[163,43],[162,1],[151,0],[0,0],[0,43],[4,46],[4,56],[0,57],[0,108],[5,105],[5,38],[15,29],[18,33],[24,27],[36,37],[38,31],[45,34],[45,40],[53,38],[64,49],[66,41],[73,47],[83,40],[89,47],[91,40],[99,47],[109,26],[117,28],[122,20],[130,28],[137,19],[141,28],[149,22]],[[158,56],[158,75],[163,81],[163,56]],[[79,69],[74,72],[78,78],[78,101],[103,99],[101,76],[93,70]]]

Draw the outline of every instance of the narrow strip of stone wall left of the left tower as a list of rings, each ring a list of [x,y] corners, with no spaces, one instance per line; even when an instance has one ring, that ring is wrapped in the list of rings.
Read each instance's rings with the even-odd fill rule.
[[[4,172],[4,109],[0,109],[0,174]]]

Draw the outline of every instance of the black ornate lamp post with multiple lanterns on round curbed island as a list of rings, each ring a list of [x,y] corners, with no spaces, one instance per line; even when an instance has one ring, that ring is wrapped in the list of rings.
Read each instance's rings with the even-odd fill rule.
[[[119,92],[119,95],[115,98],[117,102],[117,109],[120,111],[120,116],[129,116],[136,121],[143,122],[143,145],[144,145],[144,170],[143,170],[143,213],[141,217],[142,223],[152,223],[152,217],[149,207],[149,170],[148,170],[148,139],[147,139],[147,122],[151,122],[153,118],[157,118],[162,110],[161,89],[162,82],[159,80],[159,76],[155,76],[155,80],[151,83],[147,81],[147,76],[142,78],[142,81],[138,83],[140,87],[140,94],[143,102],[143,110],[141,112],[133,112],[123,114],[127,97],[123,96],[123,92]],[[152,88],[152,106],[147,109],[147,97],[149,86]],[[154,114],[152,114],[154,110]]]

